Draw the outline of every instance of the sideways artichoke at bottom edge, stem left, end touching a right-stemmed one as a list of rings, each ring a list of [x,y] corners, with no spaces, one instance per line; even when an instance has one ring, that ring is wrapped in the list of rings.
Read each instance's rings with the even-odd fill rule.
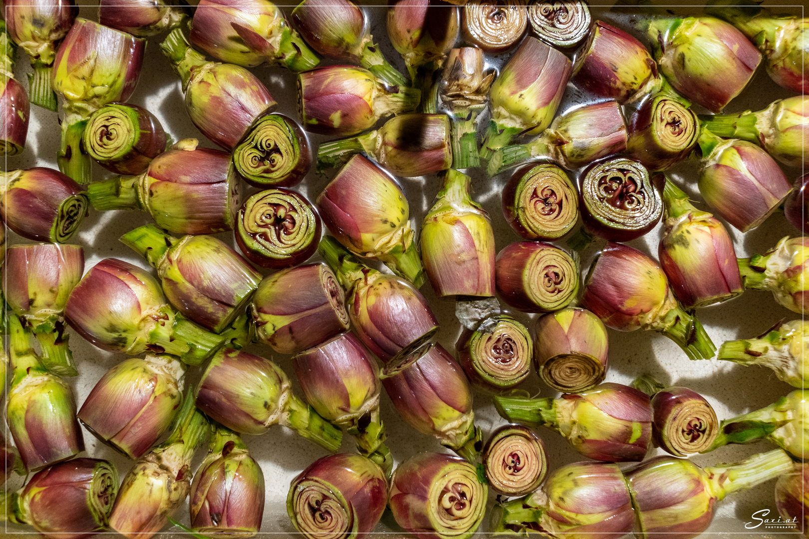
[[[615,539],[632,531],[635,510],[621,468],[576,462],[553,471],[541,490],[494,506],[495,533]]]

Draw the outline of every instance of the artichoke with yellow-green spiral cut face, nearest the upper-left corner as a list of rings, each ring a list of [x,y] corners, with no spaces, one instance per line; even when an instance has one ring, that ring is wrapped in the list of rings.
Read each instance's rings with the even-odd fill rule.
[[[93,112],[83,141],[87,154],[108,171],[142,174],[166,151],[166,132],[155,115],[138,105],[113,103]]]

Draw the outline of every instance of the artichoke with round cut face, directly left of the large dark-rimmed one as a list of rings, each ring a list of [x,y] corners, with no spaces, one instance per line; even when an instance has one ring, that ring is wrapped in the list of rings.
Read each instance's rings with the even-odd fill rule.
[[[525,239],[553,241],[576,225],[578,192],[570,176],[558,166],[527,165],[503,187],[502,207],[517,234]]]

